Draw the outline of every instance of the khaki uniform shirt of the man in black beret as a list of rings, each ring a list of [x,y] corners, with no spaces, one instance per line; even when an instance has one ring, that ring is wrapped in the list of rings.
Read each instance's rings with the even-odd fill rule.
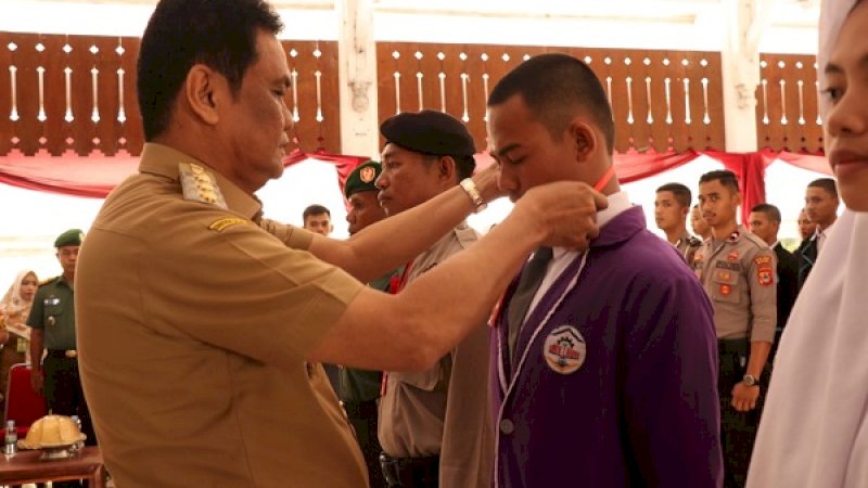
[[[413,259],[407,282],[477,239],[465,223],[457,227]],[[480,324],[430,370],[387,373],[380,399],[383,450],[393,458],[439,454],[444,488],[488,488],[494,462],[488,356],[488,328]]]

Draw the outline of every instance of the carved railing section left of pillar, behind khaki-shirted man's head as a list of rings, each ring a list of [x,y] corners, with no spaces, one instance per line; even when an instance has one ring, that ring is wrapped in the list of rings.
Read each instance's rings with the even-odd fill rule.
[[[286,104],[302,149],[340,152],[337,44],[283,46],[294,81]],[[0,156],[138,155],[138,52],[132,37],[0,33]]]

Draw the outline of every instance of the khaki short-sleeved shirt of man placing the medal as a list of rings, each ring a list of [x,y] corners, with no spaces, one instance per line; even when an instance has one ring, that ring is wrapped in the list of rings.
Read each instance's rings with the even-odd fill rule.
[[[179,163],[202,165],[146,144],[78,259],[81,381],[117,486],[368,486],[322,369],[305,362],[363,285],[286,247],[308,232],[254,223],[257,201],[204,165],[182,184]]]

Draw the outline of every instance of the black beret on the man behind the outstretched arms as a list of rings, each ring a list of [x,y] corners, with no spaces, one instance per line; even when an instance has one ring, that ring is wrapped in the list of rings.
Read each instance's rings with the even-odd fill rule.
[[[443,112],[404,112],[385,119],[380,133],[386,142],[435,156],[476,154],[473,137],[461,120]]]

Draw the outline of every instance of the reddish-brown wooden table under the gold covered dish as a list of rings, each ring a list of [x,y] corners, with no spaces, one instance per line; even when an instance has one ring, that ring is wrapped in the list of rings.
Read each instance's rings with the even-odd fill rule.
[[[0,485],[88,479],[88,486],[92,488],[105,487],[105,468],[99,447],[85,447],[66,459],[40,460],[40,455],[42,451],[39,450],[0,454]]]

